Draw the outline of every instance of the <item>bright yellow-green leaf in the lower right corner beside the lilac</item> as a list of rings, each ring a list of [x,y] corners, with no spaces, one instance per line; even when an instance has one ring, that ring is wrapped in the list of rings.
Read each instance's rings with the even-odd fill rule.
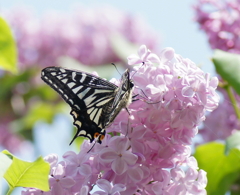
[[[240,151],[232,149],[224,155],[224,145],[212,142],[198,146],[195,158],[200,169],[207,172],[208,195],[224,195],[237,180],[240,171]]]

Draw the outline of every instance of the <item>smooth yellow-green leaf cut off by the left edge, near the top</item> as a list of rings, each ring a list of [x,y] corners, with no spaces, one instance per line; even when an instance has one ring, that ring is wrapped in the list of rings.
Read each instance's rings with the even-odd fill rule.
[[[17,73],[17,48],[8,24],[0,17],[0,67]]]

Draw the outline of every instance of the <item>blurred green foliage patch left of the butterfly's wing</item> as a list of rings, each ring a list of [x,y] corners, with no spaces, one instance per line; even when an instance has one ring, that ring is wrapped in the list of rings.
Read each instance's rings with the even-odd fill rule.
[[[12,132],[32,140],[32,128],[38,120],[52,122],[55,114],[63,112],[64,103],[40,79],[40,69],[29,68],[0,77],[0,122],[8,121]]]

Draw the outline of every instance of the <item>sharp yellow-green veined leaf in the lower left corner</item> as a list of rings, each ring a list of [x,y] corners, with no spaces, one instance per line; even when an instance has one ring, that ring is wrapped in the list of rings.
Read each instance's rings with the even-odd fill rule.
[[[12,156],[13,159],[11,166],[4,175],[10,190],[21,186],[49,191],[48,175],[50,165],[42,157],[39,157],[34,162],[26,162],[16,158],[6,150],[3,153]]]

